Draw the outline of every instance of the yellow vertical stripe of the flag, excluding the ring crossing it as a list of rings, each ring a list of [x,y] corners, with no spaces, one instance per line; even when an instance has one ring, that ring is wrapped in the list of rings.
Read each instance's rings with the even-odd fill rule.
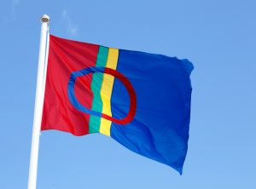
[[[108,60],[106,67],[116,70],[119,59],[119,49],[109,48]],[[111,94],[113,89],[114,77],[108,74],[103,75],[101,97],[102,97],[102,113],[112,116],[111,112]],[[111,121],[101,118],[100,133],[110,136]]]

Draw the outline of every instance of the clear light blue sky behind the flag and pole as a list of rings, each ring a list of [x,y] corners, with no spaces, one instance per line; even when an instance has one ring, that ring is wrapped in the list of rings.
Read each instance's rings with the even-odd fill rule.
[[[0,188],[26,188],[40,17],[50,33],[194,63],[180,176],[105,135],[44,131],[38,189],[256,188],[255,0],[1,0]]]

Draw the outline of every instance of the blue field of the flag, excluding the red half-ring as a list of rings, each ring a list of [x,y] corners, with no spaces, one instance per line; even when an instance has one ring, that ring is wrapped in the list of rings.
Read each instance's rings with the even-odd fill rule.
[[[112,123],[111,137],[182,174],[189,139],[192,70],[189,60],[119,50],[117,71],[135,89],[137,110],[131,123]],[[125,117],[129,112],[129,94],[118,79],[114,80],[111,107],[113,117]]]

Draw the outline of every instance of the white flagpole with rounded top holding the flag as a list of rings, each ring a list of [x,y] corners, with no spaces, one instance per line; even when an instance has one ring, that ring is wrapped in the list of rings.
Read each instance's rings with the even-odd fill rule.
[[[32,129],[31,157],[28,175],[28,189],[36,189],[38,174],[38,150],[41,131],[42,112],[44,105],[44,87],[47,68],[48,41],[49,41],[49,16],[44,14],[41,17],[41,37],[38,58],[38,78],[36,100],[34,107],[34,120]]]

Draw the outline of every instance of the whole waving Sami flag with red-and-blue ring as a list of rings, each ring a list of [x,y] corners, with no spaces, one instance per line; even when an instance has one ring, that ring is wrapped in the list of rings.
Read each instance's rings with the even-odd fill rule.
[[[108,135],[181,174],[192,70],[189,60],[50,35],[41,129]]]

